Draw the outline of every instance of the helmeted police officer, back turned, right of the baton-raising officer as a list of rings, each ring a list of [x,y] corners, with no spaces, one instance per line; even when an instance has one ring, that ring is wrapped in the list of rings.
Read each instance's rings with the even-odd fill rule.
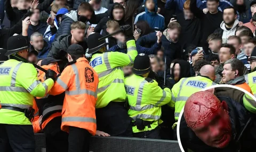
[[[139,54],[134,60],[133,75],[125,78],[125,90],[130,105],[134,137],[160,139],[161,106],[171,100],[171,90],[164,90],[149,78],[151,71],[148,55]]]

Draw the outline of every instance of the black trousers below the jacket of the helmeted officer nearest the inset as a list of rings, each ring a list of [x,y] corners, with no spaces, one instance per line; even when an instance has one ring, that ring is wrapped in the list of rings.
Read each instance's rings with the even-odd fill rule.
[[[161,139],[160,131],[161,131],[161,128],[157,126],[154,130],[151,130],[151,131],[143,131],[143,132],[133,133],[133,137],[148,138],[148,139]]]

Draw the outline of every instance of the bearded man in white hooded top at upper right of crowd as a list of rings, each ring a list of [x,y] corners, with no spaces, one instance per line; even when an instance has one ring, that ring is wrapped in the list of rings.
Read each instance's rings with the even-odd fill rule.
[[[228,37],[235,35],[238,23],[236,10],[234,7],[228,6],[223,11],[223,21],[220,24],[220,28],[215,30],[214,33],[220,33],[222,35],[222,43],[227,43]]]

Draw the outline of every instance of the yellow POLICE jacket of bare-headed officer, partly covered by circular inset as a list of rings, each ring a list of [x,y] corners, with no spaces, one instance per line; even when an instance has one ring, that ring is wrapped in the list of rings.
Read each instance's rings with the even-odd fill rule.
[[[215,84],[216,83],[211,81],[211,79],[203,76],[180,79],[180,81],[172,87],[172,99],[168,104],[170,107],[175,108],[175,120],[178,121],[180,112],[190,95]]]

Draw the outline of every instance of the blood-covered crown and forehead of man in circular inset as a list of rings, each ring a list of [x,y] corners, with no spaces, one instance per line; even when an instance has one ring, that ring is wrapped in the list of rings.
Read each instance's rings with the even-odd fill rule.
[[[186,101],[184,117],[188,127],[195,128],[221,108],[220,100],[212,93],[200,91]]]

